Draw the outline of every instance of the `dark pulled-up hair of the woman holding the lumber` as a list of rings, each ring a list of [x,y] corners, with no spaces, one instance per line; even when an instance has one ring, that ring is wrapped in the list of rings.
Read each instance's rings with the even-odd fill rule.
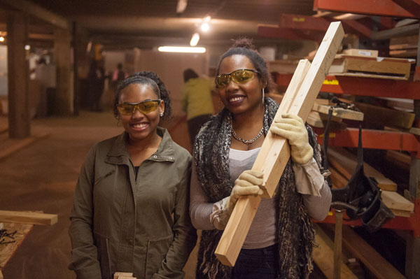
[[[244,55],[248,57],[255,69],[260,73],[259,78],[263,84],[266,85],[268,91],[274,88],[272,77],[268,72],[267,63],[264,58],[258,53],[250,38],[239,38],[234,41],[232,47],[225,52],[219,61],[216,76],[219,74],[223,59],[232,55]]]

